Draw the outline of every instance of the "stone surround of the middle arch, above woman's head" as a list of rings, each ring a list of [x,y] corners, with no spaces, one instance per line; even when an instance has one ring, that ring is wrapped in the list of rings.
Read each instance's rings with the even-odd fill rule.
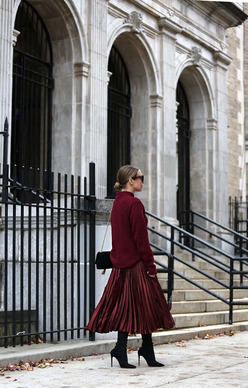
[[[131,27],[122,24],[122,21],[114,21],[108,37],[108,54],[114,44],[127,67],[132,106],[131,164],[139,166],[147,177],[139,197],[147,208],[152,209],[152,201],[155,206],[157,204],[155,193],[152,196],[151,190],[157,178],[158,158],[157,138],[152,134],[161,130],[162,125],[162,84],[159,66],[145,35],[134,34]],[[153,211],[157,211],[157,208]]]

